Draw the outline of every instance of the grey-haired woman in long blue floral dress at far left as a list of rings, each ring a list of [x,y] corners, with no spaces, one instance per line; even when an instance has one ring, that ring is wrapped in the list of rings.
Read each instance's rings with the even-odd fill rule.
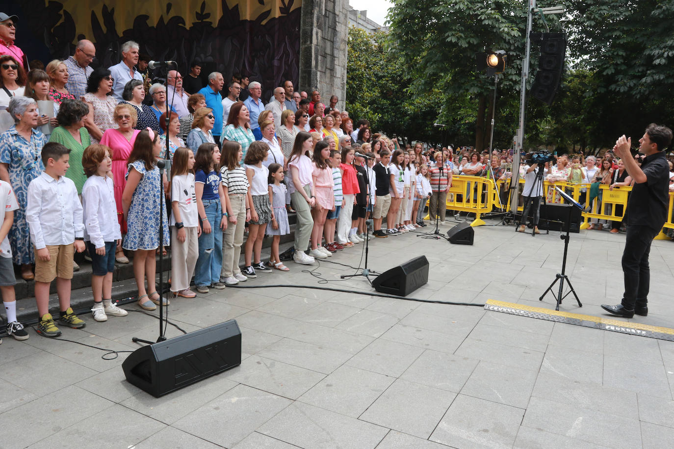
[[[21,265],[21,277],[29,280],[34,278],[30,264],[35,256],[26,222],[28,184],[44,169],[40,152],[47,138],[34,129],[38,124],[38,105],[32,98],[11,98],[7,112],[14,125],[0,135],[0,179],[9,182],[19,203],[9,230],[9,244],[14,263]]]

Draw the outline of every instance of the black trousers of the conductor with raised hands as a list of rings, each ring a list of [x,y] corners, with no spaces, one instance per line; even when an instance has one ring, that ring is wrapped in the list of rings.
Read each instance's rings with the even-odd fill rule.
[[[658,235],[658,230],[647,226],[627,226],[625,251],[623,252],[623,274],[625,275],[625,293],[621,304],[627,310],[646,307],[650,287],[650,267],[648,254],[650,244]]]

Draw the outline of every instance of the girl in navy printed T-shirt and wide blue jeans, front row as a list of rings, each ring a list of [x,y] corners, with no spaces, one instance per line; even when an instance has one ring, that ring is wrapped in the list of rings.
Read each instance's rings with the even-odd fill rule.
[[[223,289],[222,231],[227,228],[227,199],[220,182],[220,149],[214,143],[202,143],[194,163],[194,191],[196,194],[202,235],[199,237],[199,258],[194,270],[194,283],[199,293],[208,293],[208,287]]]

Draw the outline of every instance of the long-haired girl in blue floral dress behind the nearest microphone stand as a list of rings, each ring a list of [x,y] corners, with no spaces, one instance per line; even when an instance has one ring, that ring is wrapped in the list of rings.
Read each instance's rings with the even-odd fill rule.
[[[133,271],[138,287],[138,304],[145,310],[154,310],[154,304],[160,304],[160,299],[161,304],[168,304],[168,300],[161,298],[154,283],[154,255],[159,246],[159,210],[163,201],[162,180],[156,166],[161,151],[161,141],[154,131],[148,129],[138,133],[129,154],[127,184],[122,194],[122,208],[127,220],[123,248],[134,251]],[[161,219],[164,223],[162,244],[168,246],[165,207],[162,207]],[[145,278],[148,279],[147,289]]]

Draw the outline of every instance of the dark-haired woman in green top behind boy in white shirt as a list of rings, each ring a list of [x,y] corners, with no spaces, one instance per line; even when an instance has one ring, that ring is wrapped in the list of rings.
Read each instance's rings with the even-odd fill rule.
[[[91,143],[89,132],[84,127],[84,118],[89,113],[89,106],[82,100],[63,100],[57,120],[59,127],[55,128],[49,138],[50,142],[58,142],[70,149],[70,168],[65,176],[75,182],[78,195],[82,195],[82,186],[86,181],[82,168],[82,154]]]

